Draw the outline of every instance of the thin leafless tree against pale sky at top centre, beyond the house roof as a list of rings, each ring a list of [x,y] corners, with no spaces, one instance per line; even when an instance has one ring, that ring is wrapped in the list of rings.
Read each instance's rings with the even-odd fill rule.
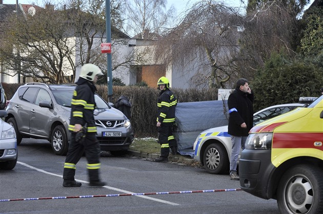
[[[153,39],[168,29],[174,7],[166,8],[167,0],[126,0],[127,31],[139,38]]]

